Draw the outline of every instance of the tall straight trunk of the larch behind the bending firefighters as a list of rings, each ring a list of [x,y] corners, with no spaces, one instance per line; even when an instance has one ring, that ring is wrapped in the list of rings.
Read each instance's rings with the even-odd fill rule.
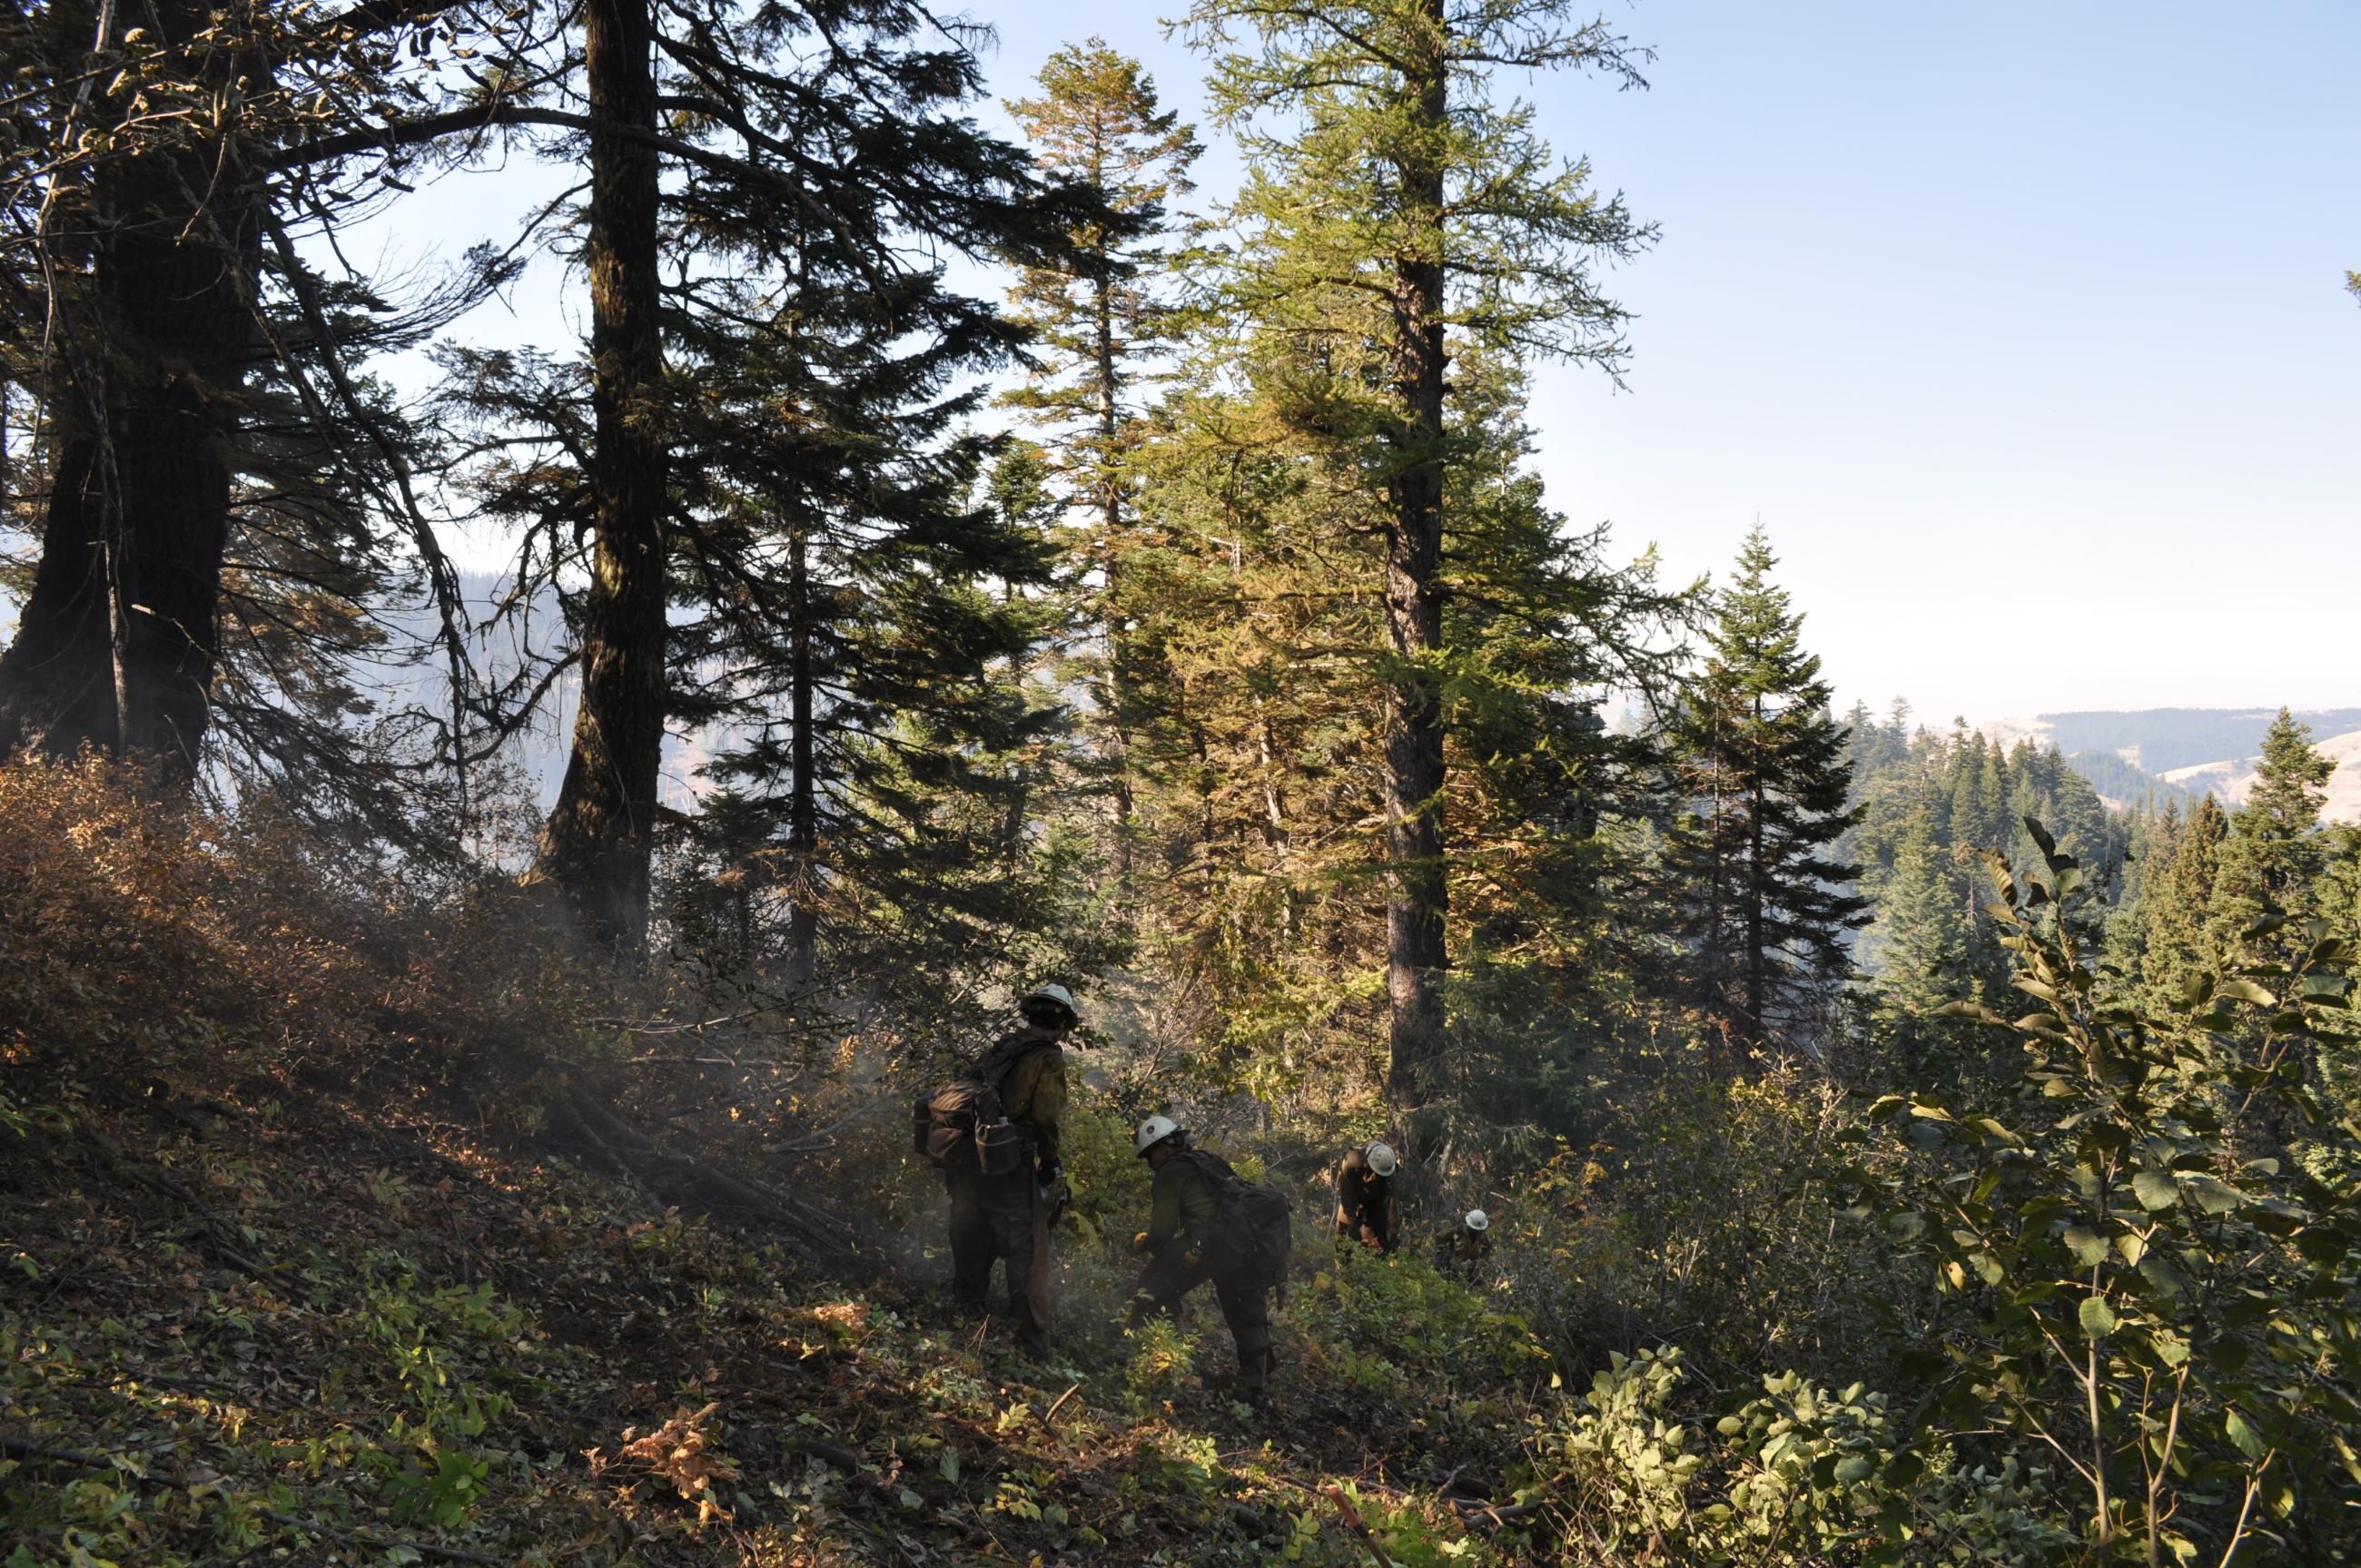
[[[1450,71],[1443,0],[1421,0],[1428,50],[1405,83],[1407,104],[1438,149]],[[1407,246],[1393,262],[1393,399],[1400,420],[1388,479],[1386,631],[1386,999],[1391,1004],[1386,1098],[1405,1152],[1424,1152],[1417,1112],[1433,1103],[1443,1067],[1447,966],[1443,916],[1443,163],[1426,151],[1400,168]]]

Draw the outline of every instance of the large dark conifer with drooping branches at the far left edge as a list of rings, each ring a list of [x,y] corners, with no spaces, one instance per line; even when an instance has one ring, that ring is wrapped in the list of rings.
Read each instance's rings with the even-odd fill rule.
[[[307,812],[373,786],[345,723],[366,704],[331,697],[326,668],[413,571],[434,579],[453,659],[460,638],[456,576],[408,494],[416,437],[359,366],[503,274],[470,262],[401,309],[305,250],[333,253],[385,189],[408,189],[359,165],[406,156],[416,177],[463,156],[416,151],[456,130],[449,104],[503,99],[453,52],[479,57],[479,80],[517,80],[534,38],[536,7],[472,0],[0,17],[0,295],[33,324],[0,340],[0,423],[7,512],[40,536],[0,652],[0,753],[90,744],[189,782],[220,685],[238,706],[231,749],[309,775],[290,791]],[[375,123],[413,113],[432,130]]]

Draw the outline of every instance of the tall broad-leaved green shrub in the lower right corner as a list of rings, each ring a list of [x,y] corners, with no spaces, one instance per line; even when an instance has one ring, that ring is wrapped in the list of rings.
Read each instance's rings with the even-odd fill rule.
[[[1955,1008],[2023,1041],[2019,1093],[1886,1096],[1915,1159],[1858,1183],[1945,1296],[1936,1417],[2071,1476],[2097,1561],[2356,1561],[2361,1190],[2271,1148],[2323,1124],[2290,1044],[2347,1008],[2347,945],[2314,930],[2151,1018],[2085,959],[2080,867],[2026,827],[2045,874],[1995,857],[1993,914],[2035,1008]]]

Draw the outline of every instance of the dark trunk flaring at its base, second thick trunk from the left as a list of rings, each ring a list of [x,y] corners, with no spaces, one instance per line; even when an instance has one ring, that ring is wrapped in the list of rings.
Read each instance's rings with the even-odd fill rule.
[[[588,0],[590,456],[593,564],[581,623],[583,697],[534,876],[552,881],[588,935],[647,940],[647,876],[663,758],[666,439],[656,335],[654,26],[647,0]]]

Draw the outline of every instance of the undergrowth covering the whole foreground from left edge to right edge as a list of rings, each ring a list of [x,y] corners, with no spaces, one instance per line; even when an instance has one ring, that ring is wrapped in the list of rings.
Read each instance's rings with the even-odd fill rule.
[[[2349,954],[2149,1018],[2019,921],[2019,1093],[1667,1046],[1473,1289],[1240,1138],[1299,1200],[1249,1407],[1209,1292],[1121,1329],[1147,1086],[1077,1074],[1025,1360],[940,1289],[911,1030],[715,1025],[531,893],[0,767],[0,1568],[2352,1561],[2361,1202],[2215,1115],[2278,1093],[2238,1008],[2326,1030]]]

